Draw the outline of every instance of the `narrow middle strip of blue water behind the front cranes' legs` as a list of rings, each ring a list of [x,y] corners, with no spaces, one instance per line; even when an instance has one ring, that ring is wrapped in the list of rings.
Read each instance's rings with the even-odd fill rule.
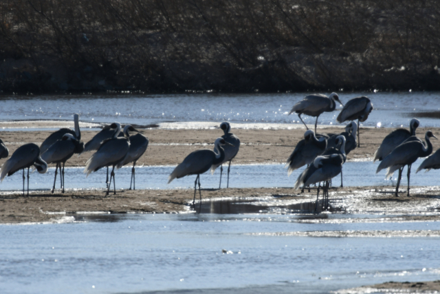
[[[420,171],[415,174],[417,167],[423,159],[417,160],[412,165],[410,184],[412,186],[437,186],[440,185],[438,170],[431,170],[427,173]],[[392,180],[385,180],[385,170],[375,174],[378,163],[371,161],[345,162],[342,169],[344,186],[388,186],[395,185],[398,172],[395,172]],[[231,188],[272,188],[272,187],[294,187],[294,183],[305,167],[294,171],[287,176],[287,169],[284,165],[231,165],[230,182]],[[175,166],[152,166],[136,168],[136,189],[173,189],[173,188],[194,188],[196,176],[186,176],[168,182],[168,176]],[[222,187],[226,187],[228,174],[227,168],[223,169]],[[50,168],[46,174],[34,172],[30,174],[30,189],[52,189],[54,184],[54,168]],[[83,168],[65,169],[66,189],[101,189],[105,187],[106,169],[90,174],[87,178],[83,174]],[[406,168],[402,173],[401,189],[406,188]],[[116,189],[129,189],[131,179],[131,167],[122,167],[115,171]],[[214,175],[206,172],[200,176],[202,189],[217,189],[219,187],[220,169]],[[59,187],[59,173],[57,186]],[[333,186],[340,185],[340,176],[333,178]],[[113,185],[112,185],[113,187]],[[14,191],[22,189],[22,172],[6,177],[0,184],[1,191]]]

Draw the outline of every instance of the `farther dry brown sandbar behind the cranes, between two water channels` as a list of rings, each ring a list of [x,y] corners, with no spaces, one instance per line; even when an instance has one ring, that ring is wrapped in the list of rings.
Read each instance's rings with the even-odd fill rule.
[[[234,125],[232,125],[234,127]],[[221,129],[141,129],[148,137],[150,144],[145,154],[137,161],[137,165],[177,165],[190,152],[197,149],[212,149],[214,140],[221,136]],[[375,150],[382,140],[393,129],[362,128],[360,130],[360,148],[351,151],[348,160],[364,160],[372,158]],[[428,128],[417,129],[417,135],[423,137]],[[439,136],[440,129],[430,128]],[[296,143],[304,137],[305,129],[232,129],[241,140],[239,154],[233,163],[281,163],[285,162]],[[318,133],[340,133],[341,127],[325,127],[318,129]],[[97,132],[81,132],[83,142],[90,140]],[[51,131],[34,132],[1,132],[0,136],[10,154],[25,143],[41,145],[43,140],[52,134]],[[439,140],[432,140],[434,150],[440,147]],[[67,161],[67,166],[84,166],[91,152],[72,156]],[[5,159],[0,160],[0,165]]]

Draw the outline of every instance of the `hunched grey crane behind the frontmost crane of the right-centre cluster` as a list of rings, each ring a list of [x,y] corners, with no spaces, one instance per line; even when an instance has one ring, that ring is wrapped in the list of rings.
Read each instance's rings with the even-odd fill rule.
[[[316,156],[323,154],[327,149],[327,139],[316,138],[311,129],[304,133],[304,139],[300,140],[292,154],[287,158],[285,167],[289,167],[287,174],[290,176],[292,171],[299,169],[303,165],[310,165]]]

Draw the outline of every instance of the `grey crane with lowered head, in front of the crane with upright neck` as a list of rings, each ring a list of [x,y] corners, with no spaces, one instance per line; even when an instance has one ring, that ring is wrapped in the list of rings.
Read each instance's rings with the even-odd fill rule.
[[[64,166],[67,160],[71,158],[74,154],[80,154],[84,150],[84,143],[76,139],[72,134],[65,134],[61,140],[56,141],[52,144],[49,149],[47,149],[43,154],[41,154],[41,159],[43,159],[48,165],[55,163],[55,178],[54,187],[52,188],[52,193],[55,191],[56,174],[58,168],[60,169],[60,179],[61,179],[61,193],[64,193]],[[61,164],[63,164],[63,170],[61,170]]]

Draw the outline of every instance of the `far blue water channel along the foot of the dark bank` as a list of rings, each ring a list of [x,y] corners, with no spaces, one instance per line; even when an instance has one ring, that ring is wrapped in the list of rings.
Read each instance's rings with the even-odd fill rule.
[[[1,96],[0,120],[80,120],[94,123],[149,125],[169,121],[301,124],[298,116],[287,115],[292,106],[309,93],[288,94],[179,94],[179,95],[50,95]],[[329,93],[325,93],[329,94]],[[369,96],[374,110],[366,126],[408,126],[415,112],[440,111],[439,92],[355,92],[340,93],[342,103],[356,96]],[[338,106],[338,109],[342,107]],[[338,111],[322,114],[319,124],[339,125]],[[313,125],[315,118],[303,116]],[[440,127],[440,120],[421,118],[421,127]]]

